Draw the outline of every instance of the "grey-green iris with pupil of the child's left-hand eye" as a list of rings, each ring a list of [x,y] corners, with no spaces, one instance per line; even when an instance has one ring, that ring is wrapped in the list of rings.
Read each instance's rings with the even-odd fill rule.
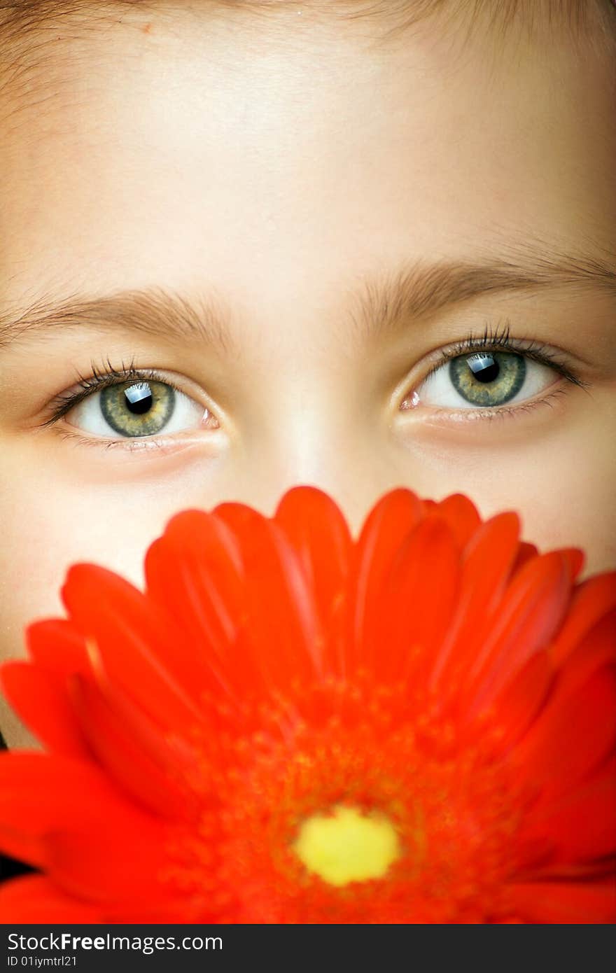
[[[162,432],[175,409],[175,392],[162,381],[123,381],[100,392],[100,411],[121,436]]]

